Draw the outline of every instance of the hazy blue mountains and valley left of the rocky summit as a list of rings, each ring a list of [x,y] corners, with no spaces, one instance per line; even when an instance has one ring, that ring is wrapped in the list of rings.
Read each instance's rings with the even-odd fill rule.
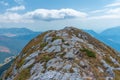
[[[22,48],[36,35],[41,32],[34,32],[26,28],[0,29],[0,63],[5,58],[15,56]]]

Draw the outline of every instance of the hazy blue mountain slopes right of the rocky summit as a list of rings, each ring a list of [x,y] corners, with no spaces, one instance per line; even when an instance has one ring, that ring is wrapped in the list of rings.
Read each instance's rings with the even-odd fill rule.
[[[101,42],[111,46],[117,51],[120,51],[120,27],[107,29],[100,34],[94,32],[93,30],[84,30],[85,32],[91,34],[96,39]]]

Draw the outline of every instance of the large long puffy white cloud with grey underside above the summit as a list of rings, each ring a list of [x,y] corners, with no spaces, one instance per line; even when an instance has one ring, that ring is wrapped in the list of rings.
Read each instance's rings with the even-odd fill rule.
[[[77,17],[84,18],[87,16],[87,14],[84,12],[76,11],[74,9],[60,9],[60,10],[37,9],[35,11],[26,13],[24,16],[28,19],[52,21]]]

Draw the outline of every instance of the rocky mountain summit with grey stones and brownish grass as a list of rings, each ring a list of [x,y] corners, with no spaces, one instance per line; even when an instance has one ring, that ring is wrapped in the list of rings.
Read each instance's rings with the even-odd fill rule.
[[[120,80],[120,56],[80,29],[51,30],[25,46],[2,80]]]

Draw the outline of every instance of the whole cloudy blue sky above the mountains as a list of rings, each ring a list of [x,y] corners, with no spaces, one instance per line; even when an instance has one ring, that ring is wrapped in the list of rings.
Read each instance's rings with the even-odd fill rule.
[[[0,0],[0,27],[35,31],[120,26],[120,0]]]

